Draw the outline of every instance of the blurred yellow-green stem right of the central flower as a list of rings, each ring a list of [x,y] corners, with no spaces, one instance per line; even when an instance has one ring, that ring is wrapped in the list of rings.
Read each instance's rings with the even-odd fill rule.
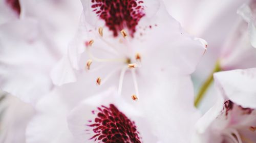
[[[208,88],[210,87],[210,84],[212,81],[214,81],[214,73],[221,71],[220,62],[217,61],[214,70],[211,72],[209,77],[204,81],[202,87],[199,90],[199,93],[195,99],[195,106],[198,107],[202,99],[204,98],[204,95]]]

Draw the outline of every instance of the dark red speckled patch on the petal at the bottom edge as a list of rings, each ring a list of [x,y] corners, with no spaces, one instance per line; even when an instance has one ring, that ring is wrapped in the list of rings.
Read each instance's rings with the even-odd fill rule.
[[[94,119],[94,123],[88,126],[94,132],[90,139],[96,142],[141,142],[135,123],[128,119],[113,104],[110,104],[109,107],[98,107],[98,114]]]

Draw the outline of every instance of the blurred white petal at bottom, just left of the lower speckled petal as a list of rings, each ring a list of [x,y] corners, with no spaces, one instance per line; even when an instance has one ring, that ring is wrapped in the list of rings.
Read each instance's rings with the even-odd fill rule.
[[[73,142],[67,125],[69,107],[62,101],[62,95],[54,90],[36,104],[36,115],[26,130],[27,143]]]

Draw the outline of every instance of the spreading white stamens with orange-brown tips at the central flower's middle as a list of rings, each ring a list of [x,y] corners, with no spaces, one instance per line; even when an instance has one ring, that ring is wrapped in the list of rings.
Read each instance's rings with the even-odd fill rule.
[[[139,90],[138,90],[138,84],[137,84],[135,70],[136,70],[136,68],[141,66],[140,53],[135,53],[133,58],[129,57],[129,56],[127,57],[125,55],[126,52],[120,51],[121,49],[124,49],[123,47],[117,48],[117,47],[115,47],[115,45],[113,45],[112,43],[108,42],[107,40],[105,40],[103,38],[103,28],[102,27],[99,27],[98,33],[99,33],[100,39],[104,42],[104,44],[108,45],[110,48],[104,49],[102,47],[101,48],[94,47],[94,44],[93,44],[94,40],[87,41],[85,44],[86,44],[86,50],[87,50],[87,53],[88,53],[90,59],[86,63],[86,70],[90,71],[90,72],[94,71],[94,69],[91,69],[91,65],[93,62],[115,64],[116,69],[113,69],[112,72],[108,73],[108,75],[106,75],[103,78],[98,77],[96,79],[96,83],[97,83],[97,85],[101,85],[101,84],[105,83],[117,71],[121,71],[120,78],[119,78],[119,85],[118,85],[118,93],[119,94],[121,94],[121,91],[122,91],[122,84],[123,84],[123,78],[124,78],[125,72],[127,70],[130,70],[132,73],[134,88],[135,88],[135,94],[133,94],[131,97],[133,100],[137,100],[139,97]],[[127,36],[128,36],[127,33],[124,30],[121,30],[120,33],[121,33],[123,39],[121,39],[121,42],[120,41],[119,42],[121,44],[126,44],[126,46],[129,45],[129,41],[127,40]],[[94,56],[94,54],[91,52],[91,48],[95,48],[95,49],[98,48],[101,51],[109,52],[110,54],[113,54],[114,56],[118,56],[118,58],[111,58],[111,59],[98,58],[98,57]],[[111,56],[111,57],[113,57],[113,56]],[[121,64],[118,64],[118,66],[117,66],[117,63],[121,63]],[[104,65],[108,65],[108,64],[104,64]]]

